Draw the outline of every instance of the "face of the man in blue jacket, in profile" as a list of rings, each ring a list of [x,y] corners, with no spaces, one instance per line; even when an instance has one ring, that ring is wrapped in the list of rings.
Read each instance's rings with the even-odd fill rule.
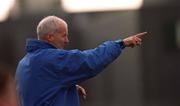
[[[61,27],[61,32],[57,32],[50,36],[50,43],[54,45],[56,48],[63,49],[66,46],[66,44],[69,43],[67,25]]]

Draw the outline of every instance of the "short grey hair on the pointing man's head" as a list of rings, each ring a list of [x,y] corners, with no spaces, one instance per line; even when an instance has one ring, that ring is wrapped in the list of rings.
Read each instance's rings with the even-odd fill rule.
[[[48,34],[54,34],[59,32],[60,23],[65,21],[56,16],[47,16],[43,18],[37,26],[37,37],[38,39],[43,38]]]

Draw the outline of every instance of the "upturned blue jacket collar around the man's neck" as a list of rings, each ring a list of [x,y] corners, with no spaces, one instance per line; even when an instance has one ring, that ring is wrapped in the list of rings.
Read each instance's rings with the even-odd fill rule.
[[[37,39],[27,39],[26,40],[26,51],[33,52],[38,49],[46,49],[46,48],[55,48],[53,45]]]

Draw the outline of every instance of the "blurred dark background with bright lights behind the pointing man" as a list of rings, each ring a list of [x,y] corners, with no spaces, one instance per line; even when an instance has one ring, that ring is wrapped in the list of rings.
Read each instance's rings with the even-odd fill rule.
[[[126,48],[101,74],[81,84],[88,94],[81,104],[180,106],[179,10],[179,0],[0,0],[0,66],[11,68],[0,72],[13,76],[26,39],[36,38],[38,22],[48,15],[67,21],[67,49],[90,49],[147,31],[142,46]],[[6,89],[2,83],[0,88]]]

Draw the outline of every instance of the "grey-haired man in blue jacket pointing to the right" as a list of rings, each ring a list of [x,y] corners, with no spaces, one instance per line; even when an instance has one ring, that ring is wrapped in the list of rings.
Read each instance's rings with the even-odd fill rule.
[[[78,90],[86,93],[77,84],[100,73],[124,47],[140,45],[146,34],[107,41],[91,50],[64,50],[67,27],[64,20],[48,16],[37,26],[38,40],[27,40],[27,54],[16,71],[22,106],[80,106]]]

